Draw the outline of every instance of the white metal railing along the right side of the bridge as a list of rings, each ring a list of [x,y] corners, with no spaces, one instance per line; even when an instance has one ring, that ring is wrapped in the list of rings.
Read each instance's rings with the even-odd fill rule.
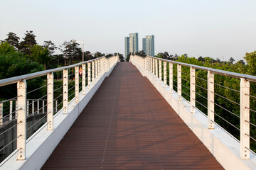
[[[164,60],[161,58],[150,56],[139,57],[137,55],[131,55],[130,61],[144,72],[147,72],[154,77],[159,78],[161,80],[161,84],[164,83],[164,86],[169,86],[170,93],[173,93],[173,91],[175,91],[174,89],[176,89],[176,93],[178,94],[178,101],[181,101],[181,98],[183,98],[183,96],[186,96],[186,98],[188,98],[188,103],[190,103],[191,113],[195,113],[196,103],[198,104],[198,106],[200,105],[204,109],[206,109],[208,117],[208,129],[214,129],[214,125],[218,125],[217,123],[215,123],[216,115],[218,118],[225,121],[225,123],[228,123],[228,125],[233,126],[235,130],[240,131],[240,141],[238,140],[238,142],[240,142],[241,159],[250,159],[250,152],[255,154],[255,152],[250,149],[250,140],[253,140],[253,142],[256,141],[255,138],[250,135],[250,126],[252,126],[252,128],[256,127],[255,124],[250,122],[250,111],[256,113],[255,110],[250,108],[250,98],[253,98],[253,100],[255,100],[256,98],[255,96],[252,96],[250,94],[250,90],[253,90],[250,89],[250,81],[256,82],[255,76],[239,74],[235,72],[227,72],[219,69],[201,67],[198,65]],[[174,68],[174,65],[176,65],[176,68]],[[182,72],[182,66],[184,67],[184,69],[189,68],[189,72]],[[169,72],[167,72],[168,69]],[[196,69],[206,71],[207,79],[196,76],[196,72],[198,72],[196,71]],[[176,74],[174,74],[174,72],[176,72]],[[186,74],[189,80],[182,77]],[[227,86],[216,83],[214,79],[215,74],[223,75],[225,77],[238,78],[238,80],[240,79],[240,90],[231,89]],[[167,79],[168,77],[169,79]],[[196,79],[205,82],[206,86],[203,86],[203,83],[196,84]],[[185,86],[182,82],[186,82],[187,84],[189,84],[189,87]],[[225,90],[233,91],[232,93],[238,93],[240,95],[240,102],[231,101],[229,98],[215,93],[215,86],[220,86]],[[183,89],[186,89],[186,91],[188,91],[188,94],[184,92]],[[202,94],[198,93],[196,89],[207,91],[207,96],[203,96]],[[196,96],[203,98],[203,100],[206,101],[207,105],[205,106],[204,103],[200,103],[199,101],[197,101]],[[220,104],[214,101],[215,96],[232,102],[234,105],[240,106],[240,115],[233,113],[233,111],[229,111],[225,108],[225,106],[220,106]],[[235,116],[235,118],[238,118],[240,121],[240,128],[230,123],[229,120],[226,120],[225,118],[222,118],[220,115],[215,113],[215,106],[223,109],[225,113],[231,114]]]

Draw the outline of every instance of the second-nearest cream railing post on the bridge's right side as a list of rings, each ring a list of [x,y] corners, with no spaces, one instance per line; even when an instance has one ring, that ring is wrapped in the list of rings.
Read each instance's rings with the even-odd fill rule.
[[[208,129],[214,129],[214,74],[208,71]]]

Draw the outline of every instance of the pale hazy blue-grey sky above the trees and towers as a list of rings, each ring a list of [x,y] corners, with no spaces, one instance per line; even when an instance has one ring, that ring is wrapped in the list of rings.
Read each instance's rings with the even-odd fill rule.
[[[256,50],[255,0],[0,0],[0,40],[33,30],[39,45],[85,42],[124,54],[124,37],[155,36],[155,53],[242,60]]]

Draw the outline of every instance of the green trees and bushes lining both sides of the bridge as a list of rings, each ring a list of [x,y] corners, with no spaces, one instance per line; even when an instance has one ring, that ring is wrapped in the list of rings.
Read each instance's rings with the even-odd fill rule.
[[[60,54],[55,54],[59,50]],[[89,51],[84,52],[85,61],[92,60],[96,57],[111,57],[114,54],[107,54],[95,52],[92,54]],[[131,53],[127,55],[126,61],[129,61]],[[143,51],[136,52],[135,55],[146,57]],[[119,54],[120,60],[123,61],[123,55]],[[244,60],[235,62],[233,57],[228,61],[220,61],[220,59],[213,59],[211,57],[188,57],[183,55],[169,55],[168,52],[160,52],[155,57],[175,60],[177,62],[185,62],[188,64],[196,64],[203,67],[210,67],[214,69],[222,69],[229,72],[238,72],[242,74],[250,74],[256,76],[256,51],[248,52],[243,57]],[[75,64],[82,61],[82,50],[80,45],[76,42],[65,41],[58,47],[50,40],[43,42],[43,45],[38,45],[36,42],[36,35],[33,31],[26,31],[24,38],[20,40],[15,33],[8,33],[7,38],[1,41],[0,44],[0,79],[9,77],[16,77],[22,74],[30,74],[46,69],[53,69],[70,64]],[[246,62],[246,63],[245,63]],[[164,67],[162,67],[164,68]],[[73,74],[73,69],[70,74]],[[190,100],[189,90],[189,67],[182,66],[182,96],[186,100]],[[164,72],[162,72],[164,74]],[[174,90],[177,90],[177,65],[174,64]],[[55,80],[61,79],[62,73],[55,74]],[[167,77],[169,77],[169,65],[167,65]],[[70,76],[69,86],[74,86],[73,76]],[[196,69],[196,107],[207,115],[207,72]],[[80,80],[81,82],[81,80]],[[28,91],[36,89],[40,86],[46,85],[46,77],[38,77],[27,81]],[[169,81],[168,81],[169,84]],[[62,86],[62,81],[55,81],[54,88],[58,89]],[[74,91],[74,89],[73,89]],[[70,91],[70,94],[73,94]],[[218,123],[225,130],[230,132],[234,137],[240,140],[240,79],[233,77],[225,77],[223,75],[215,74],[215,122]],[[16,84],[11,84],[8,88],[0,88],[1,100],[12,98],[16,96]],[[46,88],[36,91],[36,93],[28,94],[27,98],[39,98],[46,94]],[[55,98],[62,94],[62,89],[55,91]],[[217,95],[218,94],[218,95]],[[256,84],[250,82],[250,95],[256,96]],[[255,98],[250,97],[250,123],[256,125],[256,102]],[[226,122],[228,121],[228,123]],[[256,138],[255,126],[250,125],[250,135]],[[251,148],[255,151],[256,144],[251,140]]]

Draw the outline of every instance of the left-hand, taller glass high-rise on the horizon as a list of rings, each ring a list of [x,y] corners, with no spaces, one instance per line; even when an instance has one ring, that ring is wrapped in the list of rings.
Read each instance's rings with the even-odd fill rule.
[[[130,52],[139,52],[139,35],[138,33],[130,33],[129,37],[124,38],[124,51],[125,57],[129,55]]]

